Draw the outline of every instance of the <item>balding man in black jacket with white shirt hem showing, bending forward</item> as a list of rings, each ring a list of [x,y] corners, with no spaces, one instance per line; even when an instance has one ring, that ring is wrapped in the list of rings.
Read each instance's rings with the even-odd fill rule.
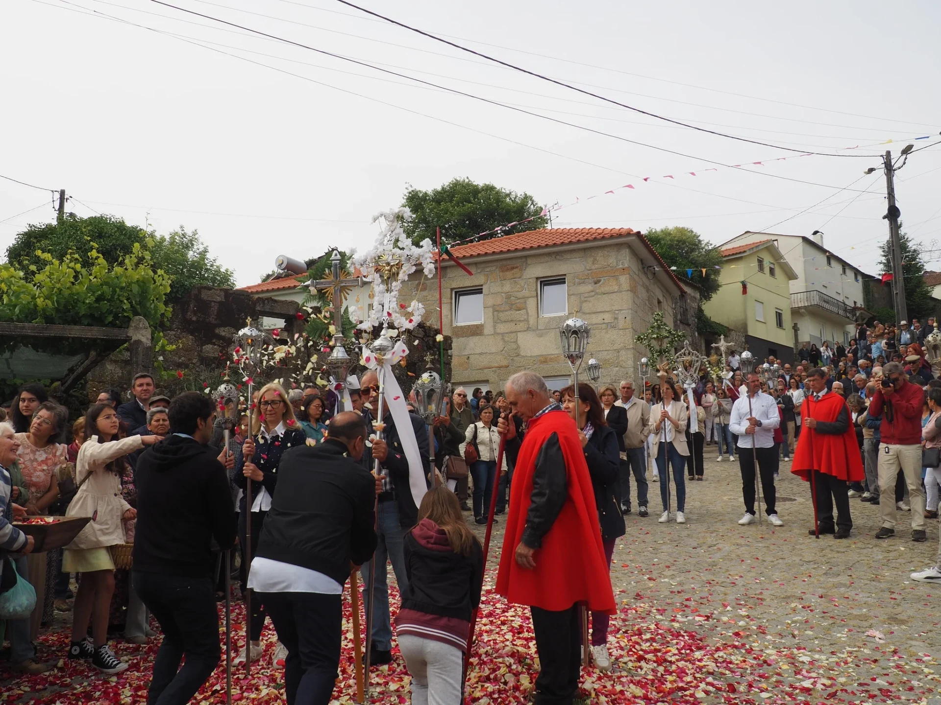
[[[375,551],[376,482],[358,462],[366,422],[330,420],[327,439],[281,456],[278,493],[251,563],[259,593],[287,647],[288,705],[327,705],[340,666],[343,584]]]

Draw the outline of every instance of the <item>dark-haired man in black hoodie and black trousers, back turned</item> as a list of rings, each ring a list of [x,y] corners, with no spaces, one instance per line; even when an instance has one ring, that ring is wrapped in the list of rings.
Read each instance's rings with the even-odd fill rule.
[[[169,408],[172,435],[137,462],[131,581],[164,632],[153,661],[152,705],[189,702],[219,663],[210,542],[222,550],[235,543],[235,509],[226,469],[206,447],[214,416],[212,399],[181,394]]]

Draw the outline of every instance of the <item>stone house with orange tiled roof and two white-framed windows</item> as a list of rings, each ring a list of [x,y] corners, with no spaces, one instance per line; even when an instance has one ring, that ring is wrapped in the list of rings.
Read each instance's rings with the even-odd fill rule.
[[[551,387],[565,386],[558,331],[573,316],[591,325],[587,356],[601,363],[602,384],[636,380],[646,349],[633,337],[655,311],[694,337],[698,293],[629,227],[530,230],[451,250],[473,273],[442,262],[442,332],[451,337],[455,384],[500,389],[513,373],[534,369]],[[419,272],[408,287],[401,300],[416,295],[437,325],[438,283]]]

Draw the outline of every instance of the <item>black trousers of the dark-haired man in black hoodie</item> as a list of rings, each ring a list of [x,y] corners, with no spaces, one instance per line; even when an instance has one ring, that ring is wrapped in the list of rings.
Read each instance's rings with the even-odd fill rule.
[[[132,571],[131,585],[164,633],[147,702],[185,705],[213,674],[221,655],[213,581]]]

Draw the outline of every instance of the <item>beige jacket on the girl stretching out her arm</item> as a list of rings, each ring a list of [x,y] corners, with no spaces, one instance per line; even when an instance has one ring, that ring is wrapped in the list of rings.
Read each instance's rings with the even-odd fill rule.
[[[142,447],[140,436],[128,436],[108,443],[99,443],[98,436],[91,436],[78,449],[75,481],[81,482],[82,486],[69,503],[65,515],[93,518],[66,548],[106,548],[124,542],[120,518],[131,509],[131,505],[121,496],[120,477],[104,466]]]

